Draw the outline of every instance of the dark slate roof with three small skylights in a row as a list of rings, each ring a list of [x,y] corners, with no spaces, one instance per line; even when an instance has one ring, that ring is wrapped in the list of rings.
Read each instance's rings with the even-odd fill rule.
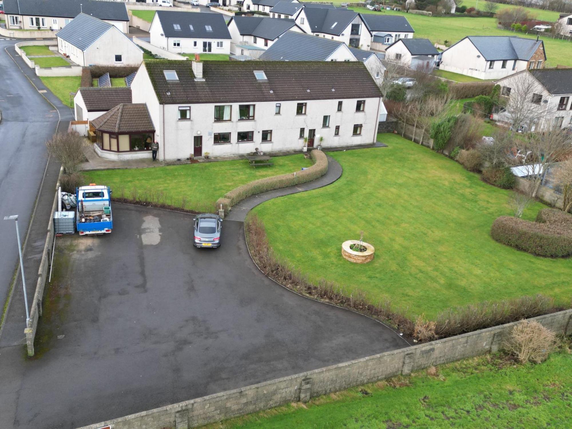
[[[171,12],[157,10],[157,19],[161,22],[165,37],[202,38],[202,39],[231,39],[227,22],[220,13]],[[175,30],[179,25],[180,30]],[[210,25],[212,31],[206,31]],[[190,26],[193,29],[190,29]]]

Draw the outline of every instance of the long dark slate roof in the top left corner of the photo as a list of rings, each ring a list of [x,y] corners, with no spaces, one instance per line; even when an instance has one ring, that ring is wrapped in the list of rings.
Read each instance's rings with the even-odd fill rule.
[[[81,6],[80,6],[81,4]],[[13,15],[75,18],[83,11],[106,21],[129,21],[124,2],[98,0],[4,0],[4,11]]]

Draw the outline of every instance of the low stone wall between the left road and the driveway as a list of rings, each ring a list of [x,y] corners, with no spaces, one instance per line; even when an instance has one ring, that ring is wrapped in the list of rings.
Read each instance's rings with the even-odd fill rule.
[[[62,176],[62,170],[63,168],[59,169],[58,182],[57,185],[55,185],[54,203],[51,205],[50,220],[47,223],[46,243],[43,245],[42,259],[39,263],[38,281],[36,282],[34,300],[30,308],[30,320],[28,320],[26,329],[24,329],[28,356],[34,356],[35,333],[38,328],[38,318],[42,315],[43,289],[46,287],[47,277],[50,274],[51,252],[55,240],[54,213],[58,207],[59,178]]]

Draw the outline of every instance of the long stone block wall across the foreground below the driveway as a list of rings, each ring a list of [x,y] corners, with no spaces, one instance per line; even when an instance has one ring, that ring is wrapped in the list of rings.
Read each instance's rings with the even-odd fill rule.
[[[572,309],[534,317],[546,328],[572,334]],[[143,411],[118,419],[84,426],[97,429],[188,429],[252,412],[267,410],[289,402],[307,402],[313,396],[373,383],[399,374],[408,375],[431,365],[495,352],[502,348],[515,323],[465,333],[430,343],[380,353],[319,370],[253,384],[218,394]]]

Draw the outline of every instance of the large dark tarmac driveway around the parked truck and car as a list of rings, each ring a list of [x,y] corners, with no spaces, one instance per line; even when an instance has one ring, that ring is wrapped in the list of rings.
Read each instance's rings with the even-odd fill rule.
[[[0,427],[73,428],[407,346],[273,283],[243,223],[195,249],[191,221],[115,204],[110,235],[57,239],[38,357],[0,354]]]

